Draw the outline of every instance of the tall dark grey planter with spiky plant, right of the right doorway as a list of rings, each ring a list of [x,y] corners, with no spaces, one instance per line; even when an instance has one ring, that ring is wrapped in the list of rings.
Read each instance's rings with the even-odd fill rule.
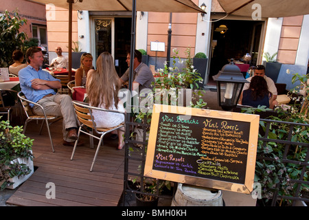
[[[282,66],[282,63],[278,62],[277,54],[278,52],[275,52],[273,55],[269,54],[268,52],[263,52],[263,57],[266,60],[265,64],[266,76],[271,78],[274,81],[274,83],[277,83],[277,78],[279,76],[279,72]]]

